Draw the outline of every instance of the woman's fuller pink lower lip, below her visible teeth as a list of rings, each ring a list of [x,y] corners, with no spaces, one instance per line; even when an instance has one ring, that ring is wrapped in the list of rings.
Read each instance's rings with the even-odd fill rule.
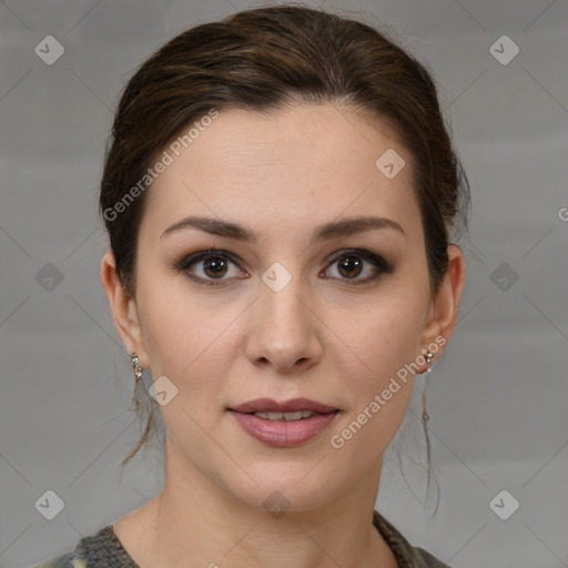
[[[313,414],[301,420],[268,420],[254,414],[229,410],[248,436],[277,448],[298,446],[324,432],[338,412]]]

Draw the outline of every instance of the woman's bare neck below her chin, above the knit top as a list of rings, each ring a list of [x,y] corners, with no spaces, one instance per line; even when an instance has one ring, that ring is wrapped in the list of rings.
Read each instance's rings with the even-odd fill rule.
[[[381,464],[374,476],[317,507],[280,511],[252,507],[197,468],[179,464],[175,448],[168,447],[162,491],[133,514],[130,529],[121,532],[122,521],[115,525],[141,568],[397,566],[372,524]]]

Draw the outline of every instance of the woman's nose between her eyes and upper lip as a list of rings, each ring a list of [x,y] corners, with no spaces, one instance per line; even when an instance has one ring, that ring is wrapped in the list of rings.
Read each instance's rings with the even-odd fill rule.
[[[302,292],[297,276],[278,292],[261,283],[260,295],[251,306],[246,344],[247,357],[254,365],[291,373],[306,371],[322,358],[318,334],[323,324],[315,305],[310,305]]]

